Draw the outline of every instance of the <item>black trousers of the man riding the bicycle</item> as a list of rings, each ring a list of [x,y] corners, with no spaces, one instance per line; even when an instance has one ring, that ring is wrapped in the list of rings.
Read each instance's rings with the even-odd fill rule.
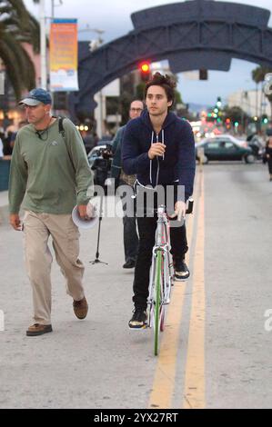
[[[133,302],[137,307],[143,309],[146,309],[148,297],[149,270],[152,262],[152,249],[155,243],[156,220],[156,216],[154,218],[137,218],[140,242],[133,283]],[[183,259],[188,250],[185,224],[181,227],[170,227],[170,241],[173,257]]]

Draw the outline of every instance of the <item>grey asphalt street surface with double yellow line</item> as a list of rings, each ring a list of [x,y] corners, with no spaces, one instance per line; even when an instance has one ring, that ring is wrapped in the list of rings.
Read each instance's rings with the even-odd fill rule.
[[[263,164],[197,167],[187,220],[191,277],[176,283],[158,357],[130,331],[123,224],[81,231],[89,313],[78,321],[53,264],[53,333],[26,337],[32,296],[22,233],[0,225],[0,408],[271,408],[272,183]],[[271,316],[271,314],[270,314]]]

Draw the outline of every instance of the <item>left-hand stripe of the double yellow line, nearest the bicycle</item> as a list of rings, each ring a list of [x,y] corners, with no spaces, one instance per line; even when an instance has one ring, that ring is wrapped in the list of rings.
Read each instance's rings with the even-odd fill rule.
[[[196,194],[199,176],[196,179]],[[186,221],[187,240],[192,243],[195,216]],[[189,263],[189,256],[186,257]],[[176,359],[180,341],[180,325],[183,313],[186,282],[176,282],[172,289],[171,302],[166,311],[166,330],[161,334],[161,344],[156,363],[153,388],[149,398],[148,408],[171,408],[176,381]]]

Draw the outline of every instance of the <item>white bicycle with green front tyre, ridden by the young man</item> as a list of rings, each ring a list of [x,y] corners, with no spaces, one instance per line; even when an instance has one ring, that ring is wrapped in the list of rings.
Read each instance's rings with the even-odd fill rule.
[[[189,200],[186,214],[193,212],[193,200]],[[148,326],[154,329],[154,353],[159,350],[159,333],[165,329],[166,306],[170,303],[171,288],[174,284],[174,268],[170,253],[170,223],[166,206],[156,210],[157,226],[155,245],[152,251],[152,264],[147,299]]]

